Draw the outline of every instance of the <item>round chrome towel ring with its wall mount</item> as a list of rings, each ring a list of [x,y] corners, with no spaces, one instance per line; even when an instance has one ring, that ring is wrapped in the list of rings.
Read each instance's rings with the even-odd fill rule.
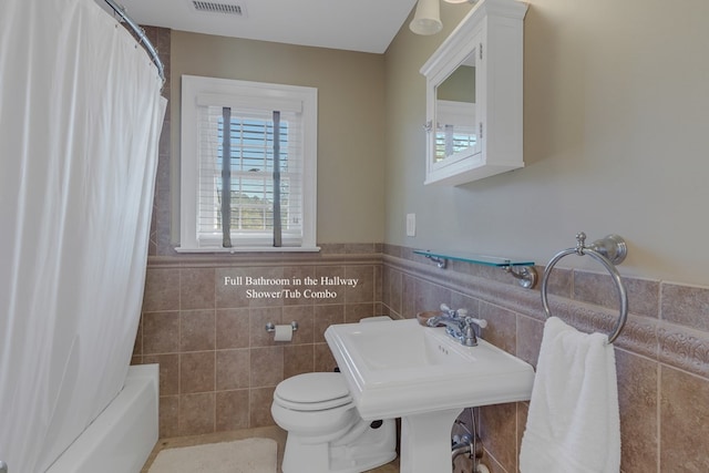
[[[600,263],[610,274],[613,278],[616,289],[618,290],[619,298],[619,317],[616,326],[613,329],[613,332],[608,333],[608,343],[613,343],[620,331],[623,331],[623,327],[625,327],[625,322],[628,319],[628,295],[625,289],[625,285],[620,279],[620,274],[616,269],[615,265],[619,265],[625,259],[628,253],[627,246],[623,237],[618,235],[608,235],[607,237],[594,241],[589,246],[586,246],[586,234],[583,232],[576,235],[576,247],[568,248],[563,251],[557,253],[546,265],[546,269],[544,270],[544,277],[542,278],[542,305],[544,305],[544,312],[546,317],[552,317],[552,312],[549,311],[549,305],[547,300],[547,281],[549,275],[552,274],[552,269],[565,256],[575,254],[579,256],[589,255],[595,260]]]

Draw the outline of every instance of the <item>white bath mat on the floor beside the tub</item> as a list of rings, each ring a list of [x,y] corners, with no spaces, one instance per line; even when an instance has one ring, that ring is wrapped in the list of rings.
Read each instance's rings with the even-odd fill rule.
[[[276,441],[246,439],[162,450],[148,473],[276,473]]]

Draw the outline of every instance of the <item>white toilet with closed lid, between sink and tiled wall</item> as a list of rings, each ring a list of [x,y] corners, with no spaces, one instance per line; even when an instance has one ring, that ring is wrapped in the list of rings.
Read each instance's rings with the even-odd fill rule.
[[[288,432],[284,473],[361,473],[397,457],[393,419],[361,419],[340,373],[281,381],[271,414]]]

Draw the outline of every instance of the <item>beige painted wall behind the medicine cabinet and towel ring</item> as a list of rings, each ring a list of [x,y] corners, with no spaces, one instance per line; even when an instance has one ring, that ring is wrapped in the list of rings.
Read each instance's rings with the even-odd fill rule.
[[[617,233],[629,244],[621,274],[708,285],[709,3],[530,3],[524,169],[455,188],[422,185],[418,71],[467,6],[442,3],[443,33],[404,27],[390,47],[384,241],[545,264],[579,230]],[[407,213],[418,217],[414,238]]]

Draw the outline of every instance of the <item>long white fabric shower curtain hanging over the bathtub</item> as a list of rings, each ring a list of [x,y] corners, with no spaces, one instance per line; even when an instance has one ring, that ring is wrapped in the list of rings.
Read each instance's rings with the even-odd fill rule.
[[[0,460],[44,472],[123,384],[161,79],[93,0],[0,1]]]

